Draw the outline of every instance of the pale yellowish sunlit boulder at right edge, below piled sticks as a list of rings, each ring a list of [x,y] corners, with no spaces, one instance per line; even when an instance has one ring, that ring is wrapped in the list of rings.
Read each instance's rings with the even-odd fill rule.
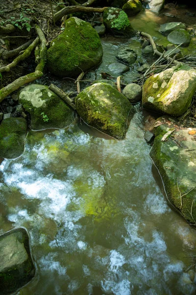
[[[196,90],[196,70],[173,67],[147,79],[142,104],[150,111],[175,117],[189,108]]]

